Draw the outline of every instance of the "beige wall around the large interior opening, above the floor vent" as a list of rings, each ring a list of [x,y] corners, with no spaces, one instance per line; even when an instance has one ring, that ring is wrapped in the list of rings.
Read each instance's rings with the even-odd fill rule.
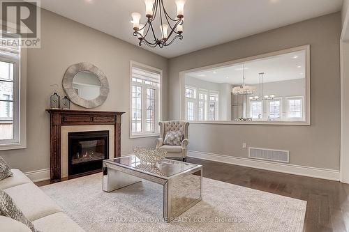
[[[234,31],[232,31],[234,33]],[[311,45],[311,125],[189,127],[189,150],[248,157],[248,146],[290,150],[290,163],[339,170],[341,13],[325,15],[170,59],[170,118],[179,118],[179,72],[205,65]]]

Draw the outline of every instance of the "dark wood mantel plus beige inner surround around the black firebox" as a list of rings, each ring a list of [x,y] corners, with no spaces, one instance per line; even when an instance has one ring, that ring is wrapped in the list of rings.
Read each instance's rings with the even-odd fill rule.
[[[50,113],[50,176],[52,180],[64,177],[62,174],[65,175],[65,172],[68,176],[68,170],[64,169],[68,159],[61,158],[61,153],[68,152],[68,136],[64,138],[67,141],[61,141],[61,132],[101,131],[101,128],[109,130],[113,133],[110,134],[109,139],[109,145],[112,148],[109,150],[109,157],[121,156],[121,116],[124,112],[64,109],[47,109],[47,112]],[[64,144],[67,146],[61,150]]]

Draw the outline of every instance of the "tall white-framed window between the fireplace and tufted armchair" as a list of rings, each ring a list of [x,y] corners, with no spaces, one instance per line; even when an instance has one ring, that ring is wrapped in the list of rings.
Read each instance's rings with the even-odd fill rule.
[[[158,133],[161,70],[131,62],[131,137]]]

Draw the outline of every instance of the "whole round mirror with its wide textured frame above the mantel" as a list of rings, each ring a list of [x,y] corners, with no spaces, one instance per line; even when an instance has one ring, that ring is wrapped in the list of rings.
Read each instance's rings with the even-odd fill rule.
[[[109,94],[107,77],[91,63],[71,65],[66,70],[62,85],[70,101],[85,108],[102,105]]]

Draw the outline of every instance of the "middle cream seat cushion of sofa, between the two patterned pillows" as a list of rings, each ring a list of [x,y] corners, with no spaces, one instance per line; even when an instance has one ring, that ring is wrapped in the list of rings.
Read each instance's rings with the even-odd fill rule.
[[[4,191],[13,198],[18,208],[31,221],[61,212],[61,208],[34,183],[17,185]]]

